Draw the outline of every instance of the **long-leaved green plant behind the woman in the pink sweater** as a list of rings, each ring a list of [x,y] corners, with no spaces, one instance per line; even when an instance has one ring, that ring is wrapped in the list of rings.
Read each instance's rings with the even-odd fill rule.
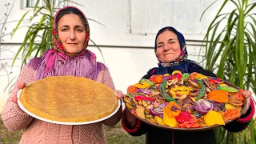
[[[30,23],[30,26],[28,26],[28,30],[23,39],[22,46],[20,46],[17,54],[14,57],[12,66],[14,65],[14,62],[16,61],[16,59],[18,58],[18,55],[20,54],[22,54],[22,66],[24,66],[26,62],[30,60],[30,58],[41,56],[44,51],[49,50],[52,47],[53,42],[52,42],[51,30],[54,22],[54,14],[56,10],[58,10],[58,7],[62,6],[63,2],[73,2],[73,1],[63,0],[62,2],[56,3],[58,1],[43,0],[46,6],[42,6],[42,7],[39,7],[39,2],[41,2],[41,0],[37,0],[35,2],[34,10],[29,10],[25,14],[23,14],[22,18],[19,20],[16,28],[14,29],[13,34],[16,33],[16,31],[18,30],[18,28],[20,28],[22,23],[25,23],[25,24],[27,22]],[[73,2],[73,3],[81,6],[76,2]],[[25,21],[25,18],[31,12],[33,12],[32,17],[28,18],[28,20]],[[32,21],[35,21],[35,19],[38,16],[42,16],[41,19],[38,22],[32,23]],[[90,18],[88,18],[88,20],[94,21],[93,19],[90,19]],[[94,21],[94,22],[97,22],[97,21]],[[95,44],[95,42],[92,41],[91,39],[90,39],[90,42],[93,42],[94,45],[98,48],[98,50],[102,54],[102,51]]]

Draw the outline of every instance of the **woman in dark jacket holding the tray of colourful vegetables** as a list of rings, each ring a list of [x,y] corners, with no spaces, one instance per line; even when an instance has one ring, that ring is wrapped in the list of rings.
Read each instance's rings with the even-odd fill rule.
[[[155,54],[158,58],[158,67],[148,71],[143,78],[150,78],[154,74],[172,74],[174,70],[180,70],[182,73],[198,72],[206,76],[216,77],[209,70],[204,70],[196,62],[187,58],[186,42],[181,33],[173,27],[164,27],[158,31],[154,44]],[[244,130],[250,123],[254,115],[254,102],[250,98],[250,105],[246,107],[246,114],[243,114],[237,121],[230,122],[224,128],[230,132]],[[166,144],[166,143],[216,143],[214,130],[205,131],[174,131],[159,129],[141,122],[128,109],[122,114],[123,128],[133,136],[146,134],[146,144]]]

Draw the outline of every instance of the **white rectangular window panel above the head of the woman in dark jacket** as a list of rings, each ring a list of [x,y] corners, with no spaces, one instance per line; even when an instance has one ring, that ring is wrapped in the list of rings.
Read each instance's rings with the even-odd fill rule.
[[[206,34],[214,13],[199,18],[213,0],[129,0],[130,34],[156,34],[164,26],[174,26],[182,34]],[[217,2],[211,10],[217,10]]]

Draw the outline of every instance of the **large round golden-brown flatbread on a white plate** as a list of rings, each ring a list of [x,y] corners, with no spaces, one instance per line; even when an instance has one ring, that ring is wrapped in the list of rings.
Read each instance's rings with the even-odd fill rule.
[[[118,107],[110,87],[88,78],[50,77],[27,85],[19,96],[32,114],[56,122],[90,122]]]

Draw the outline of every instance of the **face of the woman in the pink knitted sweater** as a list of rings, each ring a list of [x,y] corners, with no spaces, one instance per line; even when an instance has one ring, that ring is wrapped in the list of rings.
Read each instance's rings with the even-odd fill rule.
[[[66,52],[79,53],[86,39],[86,29],[76,14],[66,14],[58,21],[58,37]]]

